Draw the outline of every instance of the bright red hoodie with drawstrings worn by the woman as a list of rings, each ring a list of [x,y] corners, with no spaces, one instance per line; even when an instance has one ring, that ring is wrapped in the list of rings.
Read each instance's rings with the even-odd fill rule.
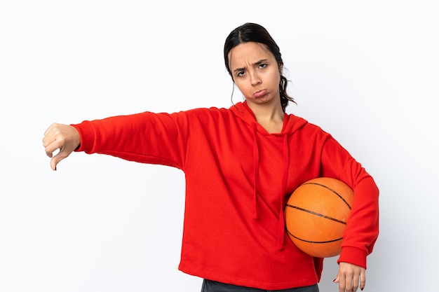
[[[182,169],[182,272],[268,290],[316,284],[323,259],[292,244],[283,209],[297,186],[319,176],[353,188],[339,261],[366,267],[378,235],[377,186],[330,134],[303,118],[285,113],[282,132],[269,134],[243,102],[74,127],[81,135],[77,151]]]

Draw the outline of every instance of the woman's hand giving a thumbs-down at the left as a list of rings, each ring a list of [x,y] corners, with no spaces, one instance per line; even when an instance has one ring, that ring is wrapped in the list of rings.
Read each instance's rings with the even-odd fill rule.
[[[52,124],[46,132],[44,132],[43,146],[46,150],[46,155],[50,159],[50,167],[56,170],[56,165],[67,158],[81,143],[79,132],[71,125]],[[60,152],[53,156],[53,152],[60,149]]]

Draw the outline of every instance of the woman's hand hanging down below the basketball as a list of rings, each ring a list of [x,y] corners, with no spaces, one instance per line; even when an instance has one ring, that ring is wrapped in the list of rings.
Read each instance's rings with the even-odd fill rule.
[[[334,283],[339,284],[339,292],[356,292],[358,287],[363,291],[366,284],[366,269],[351,263],[339,263],[339,273]]]

